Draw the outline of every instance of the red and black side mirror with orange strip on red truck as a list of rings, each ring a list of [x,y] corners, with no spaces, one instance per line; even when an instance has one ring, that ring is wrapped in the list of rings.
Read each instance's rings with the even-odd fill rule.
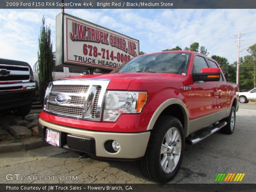
[[[220,68],[202,68],[201,73],[192,74],[193,81],[219,81]]]

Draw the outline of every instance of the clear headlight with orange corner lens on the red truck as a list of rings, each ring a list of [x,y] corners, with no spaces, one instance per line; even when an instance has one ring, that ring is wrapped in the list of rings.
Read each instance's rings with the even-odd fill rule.
[[[103,121],[114,122],[121,114],[140,113],[147,101],[146,92],[108,91]]]

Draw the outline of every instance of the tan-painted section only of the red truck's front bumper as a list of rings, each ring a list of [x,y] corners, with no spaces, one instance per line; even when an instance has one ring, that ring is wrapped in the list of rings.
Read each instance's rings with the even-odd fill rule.
[[[65,132],[68,134],[74,134],[78,136],[88,136],[95,139],[96,156],[107,158],[140,158],[144,156],[150,137],[150,132],[142,133],[116,133],[116,132],[99,132],[89,131],[78,128],[70,128],[62,125],[53,124],[47,121],[39,119],[39,123],[43,126]],[[104,144],[108,140],[115,140],[120,145],[120,150],[116,153],[110,153],[105,150]]]

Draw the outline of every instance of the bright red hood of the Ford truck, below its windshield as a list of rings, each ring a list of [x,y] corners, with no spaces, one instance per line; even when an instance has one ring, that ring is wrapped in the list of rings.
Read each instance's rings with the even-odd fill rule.
[[[62,78],[66,79],[109,79],[108,90],[128,90],[131,82],[133,84],[142,84],[143,82],[165,82],[170,80],[180,82],[181,78],[186,79],[187,76],[168,73],[110,73],[96,75],[82,75]]]

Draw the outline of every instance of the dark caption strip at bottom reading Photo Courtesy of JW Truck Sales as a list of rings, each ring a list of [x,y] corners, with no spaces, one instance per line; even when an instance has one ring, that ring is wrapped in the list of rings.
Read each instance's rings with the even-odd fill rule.
[[[0,184],[0,192],[254,192],[256,184]]]

